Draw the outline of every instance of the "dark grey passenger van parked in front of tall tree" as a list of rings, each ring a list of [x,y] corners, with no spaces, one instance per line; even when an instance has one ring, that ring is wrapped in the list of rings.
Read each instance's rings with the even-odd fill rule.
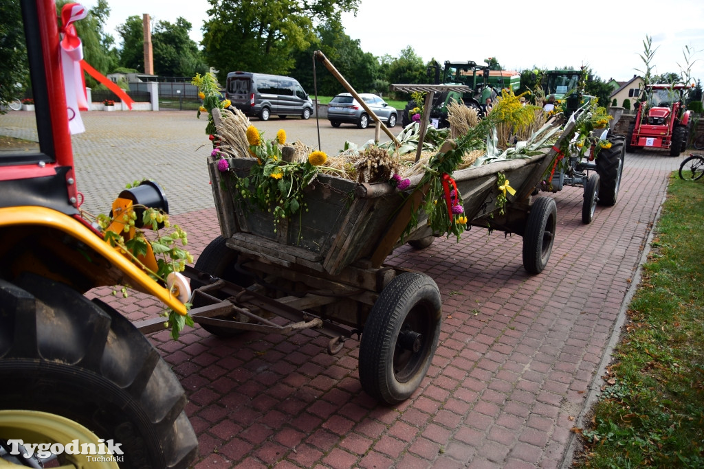
[[[271,115],[313,115],[313,101],[296,79],[253,72],[230,72],[225,98],[245,115],[269,120]]]

